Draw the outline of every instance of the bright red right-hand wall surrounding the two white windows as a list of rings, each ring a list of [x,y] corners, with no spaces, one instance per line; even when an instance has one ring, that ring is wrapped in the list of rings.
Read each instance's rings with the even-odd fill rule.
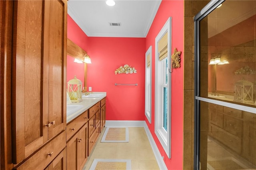
[[[182,170],[183,152],[183,47],[184,47],[184,12],[183,1],[163,0],[146,37],[146,49],[152,45],[152,120],[146,123],[156,142],[168,170]],[[171,112],[171,158],[166,155],[154,133],[154,98],[155,98],[155,38],[169,17],[172,17],[172,53],[176,47],[181,51],[181,67],[172,72],[172,112]]]

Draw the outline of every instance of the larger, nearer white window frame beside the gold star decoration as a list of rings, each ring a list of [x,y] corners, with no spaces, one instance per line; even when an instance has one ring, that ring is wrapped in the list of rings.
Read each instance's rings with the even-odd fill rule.
[[[159,61],[158,57],[158,42],[168,32],[168,46],[167,46],[167,59],[168,59],[168,70],[170,70],[171,65],[171,37],[172,37],[172,18],[168,18],[161,31],[156,36],[155,40],[155,133],[160,141],[164,151],[166,152],[168,158],[171,158],[171,74],[168,71],[168,83],[163,84],[163,75],[166,74],[163,69],[163,63],[165,59]],[[163,88],[167,87],[168,93],[168,105],[167,105],[167,131],[163,127]]]

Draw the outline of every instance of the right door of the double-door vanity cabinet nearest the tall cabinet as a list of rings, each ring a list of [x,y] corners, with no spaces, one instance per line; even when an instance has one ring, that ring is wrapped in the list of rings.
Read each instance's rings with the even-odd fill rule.
[[[79,131],[79,143],[78,143],[78,164],[79,169],[82,170],[87,160],[87,143],[88,141],[88,123],[86,123]]]

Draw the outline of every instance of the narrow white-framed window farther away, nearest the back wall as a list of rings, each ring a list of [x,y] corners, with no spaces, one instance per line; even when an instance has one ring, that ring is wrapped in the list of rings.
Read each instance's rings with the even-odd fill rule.
[[[150,66],[148,67],[147,56],[150,54]],[[145,54],[145,115],[151,124],[151,104],[152,104],[152,45]]]

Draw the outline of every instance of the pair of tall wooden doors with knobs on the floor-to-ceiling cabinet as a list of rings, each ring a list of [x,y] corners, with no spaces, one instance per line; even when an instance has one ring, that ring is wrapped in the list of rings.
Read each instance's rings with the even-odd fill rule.
[[[14,164],[66,129],[66,23],[66,0],[14,2]]]

